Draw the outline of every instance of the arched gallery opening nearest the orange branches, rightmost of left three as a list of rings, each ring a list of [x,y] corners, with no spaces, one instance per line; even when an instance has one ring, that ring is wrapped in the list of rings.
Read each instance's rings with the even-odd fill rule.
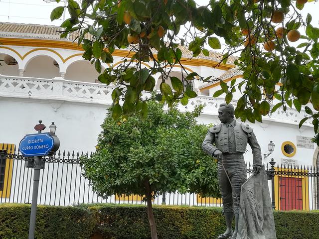
[[[104,68],[102,67],[103,71]],[[100,83],[98,80],[99,75],[100,73],[95,70],[94,64],[91,64],[90,61],[82,60],[69,65],[64,78],[71,81]]]

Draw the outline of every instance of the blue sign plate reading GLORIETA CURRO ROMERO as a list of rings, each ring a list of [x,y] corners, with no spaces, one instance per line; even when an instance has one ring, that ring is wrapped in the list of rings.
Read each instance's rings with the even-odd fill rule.
[[[24,156],[49,155],[54,146],[54,138],[49,133],[26,134],[19,144],[19,151]]]

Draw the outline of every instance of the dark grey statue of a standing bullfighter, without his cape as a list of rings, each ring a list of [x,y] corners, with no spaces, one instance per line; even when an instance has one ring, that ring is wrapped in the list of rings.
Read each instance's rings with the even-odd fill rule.
[[[218,109],[221,124],[209,128],[202,148],[218,160],[218,183],[223,200],[226,232],[218,239],[236,239],[239,221],[239,200],[242,184],[247,178],[243,153],[247,143],[253,151],[253,168],[258,174],[262,165],[260,146],[253,129],[234,119],[234,107],[221,104]],[[235,216],[235,230],[232,221]]]

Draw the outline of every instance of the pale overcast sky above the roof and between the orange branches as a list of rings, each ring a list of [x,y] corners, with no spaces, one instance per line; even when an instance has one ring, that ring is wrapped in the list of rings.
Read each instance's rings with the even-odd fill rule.
[[[209,2],[209,0],[195,1],[200,5],[205,5]],[[55,7],[63,6],[64,4],[64,0],[61,0],[59,3],[55,2],[55,0],[52,0],[52,2],[45,2],[44,0],[0,0],[0,22],[60,25],[63,22],[63,18],[51,21],[50,13]],[[312,14],[312,24],[319,27],[319,2],[306,3],[304,9],[301,11],[304,18],[306,18],[308,12]],[[68,17],[68,12],[65,17]],[[303,29],[300,29],[300,31],[304,34]],[[300,43],[298,41],[295,45],[297,46]],[[219,51],[222,51],[226,47],[222,39],[221,44],[222,49]]]

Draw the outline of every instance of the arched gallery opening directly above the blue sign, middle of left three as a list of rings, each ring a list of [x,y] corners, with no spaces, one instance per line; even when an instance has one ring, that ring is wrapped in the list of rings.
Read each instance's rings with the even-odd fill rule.
[[[52,79],[60,76],[60,73],[59,68],[54,65],[52,57],[39,55],[32,58],[27,64],[24,76]]]

